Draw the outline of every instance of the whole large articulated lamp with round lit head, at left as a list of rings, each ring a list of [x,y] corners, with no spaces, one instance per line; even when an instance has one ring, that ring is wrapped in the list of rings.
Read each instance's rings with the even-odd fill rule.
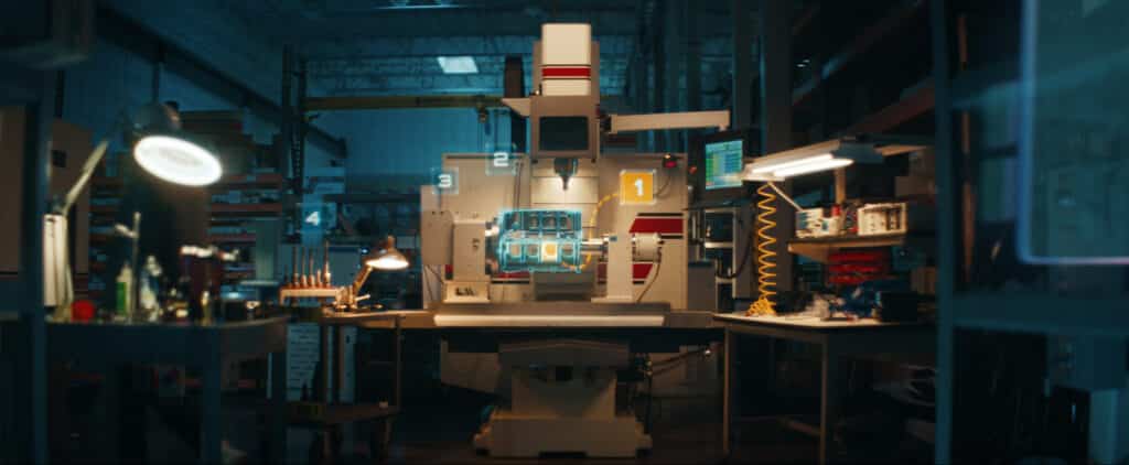
[[[181,130],[180,113],[167,105],[152,103],[138,108],[132,117],[123,114],[114,124],[111,134],[119,130],[123,130],[126,141],[137,140],[132,150],[133,160],[157,178],[186,186],[205,186],[218,181],[222,174],[216,155],[193,142]],[[82,165],[78,181],[65,196],[52,202],[50,213],[44,217],[44,305],[63,309],[59,313],[63,318],[70,315],[70,304],[75,298],[70,253],[67,249],[67,213],[105,157],[112,137],[107,137],[95,147]],[[134,216],[133,229],[126,230],[130,232],[128,236],[134,242],[139,236],[138,222],[139,219]],[[134,256],[133,261],[135,260]],[[137,270],[135,263],[133,269]]]

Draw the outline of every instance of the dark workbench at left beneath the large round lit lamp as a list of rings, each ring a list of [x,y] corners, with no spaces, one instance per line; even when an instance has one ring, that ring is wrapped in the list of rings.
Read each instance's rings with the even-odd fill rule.
[[[116,397],[116,369],[126,365],[167,363],[196,367],[201,370],[200,462],[221,462],[220,378],[222,367],[230,362],[270,356],[271,391],[270,457],[285,460],[286,454],[286,345],[289,318],[264,318],[235,323],[120,323],[120,322],[49,322],[47,360],[50,363],[76,362],[107,369],[104,391]],[[65,389],[55,383],[53,389]],[[63,394],[65,391],[59,392]],[[64,394],[63,394],[64,395]],[[62,397],[54,401],[65,405]],[[114,402],[111,401],[111,404]],[[113,412],[113,405],[108,411]],[[128,441],[115,431],[115,421],[104,429],[113,440]],[[133,432],[129,432],[133,433]],[[107,463],[120,463],[120,447],[107,447]]]

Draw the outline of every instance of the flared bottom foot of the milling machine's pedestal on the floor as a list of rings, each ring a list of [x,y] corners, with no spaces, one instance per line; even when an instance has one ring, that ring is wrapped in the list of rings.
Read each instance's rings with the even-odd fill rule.
[[[474,448],[493,457],[581,453],[588,457],[634,457],[649,450],[650,436],[631,415],[610,419],[519,415],[496,411],[474,435]]]

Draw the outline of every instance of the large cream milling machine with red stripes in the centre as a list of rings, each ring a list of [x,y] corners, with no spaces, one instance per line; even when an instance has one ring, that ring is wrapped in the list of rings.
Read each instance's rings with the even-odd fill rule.
[[[586,24],[543,25],[533,54],[533,95],[502,99],[532,124],[528,153],[447,153],[421,191],[425,300],[454,334],[441,378],[509,398],[474,438],[493,456],[634,456],[650,438],[616,409],[618,370],[709,317],[684,312],[685,157],[601,141],[729,114],[601,115]]]

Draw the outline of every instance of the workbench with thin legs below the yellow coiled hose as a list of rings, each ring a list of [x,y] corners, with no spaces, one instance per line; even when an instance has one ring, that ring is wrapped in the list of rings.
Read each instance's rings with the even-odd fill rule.
[[[732,451],[730,437],[735,405],[739,400],[736,386],[736,344],[743,335],[762,336],[820,346],[820,455],[819,463],[833,462],[834,425],[839,419],[841,395],[835,380],[844,357],[908,357],[936,350],[936,328],[926,323],[884,323],[875,319],[823,321],[816,317],[715,315],[725,327],[725,393],[721,418],[721,448]]]

